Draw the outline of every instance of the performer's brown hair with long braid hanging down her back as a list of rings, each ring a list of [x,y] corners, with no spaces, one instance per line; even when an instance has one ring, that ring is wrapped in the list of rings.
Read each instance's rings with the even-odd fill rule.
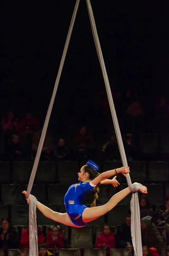
[[[99,172],[96,172],[96,171],[95,171],[91,166],[89,166],[89,165],[84,165],[83,167],[84,167],[84,172],[87,172],[87,173],[89,174],[89,179],[90,179],[90,180],[94,180],[97,176],[100,175]],[[95,192],[95,194],[94,194],[94,200],[93,200],[93,202],[92,202],[92,204],[91,204],[90,207],[95,207],[95,206],[96,206],[96,200],[99,198],[98,195],[97,195],[97,193],[99,192],[99,187],[98,187],[98,186],[100,186],[100,183],[97,184],[97,186],[95,186],[95,188],[93,189],[93,191]]]

